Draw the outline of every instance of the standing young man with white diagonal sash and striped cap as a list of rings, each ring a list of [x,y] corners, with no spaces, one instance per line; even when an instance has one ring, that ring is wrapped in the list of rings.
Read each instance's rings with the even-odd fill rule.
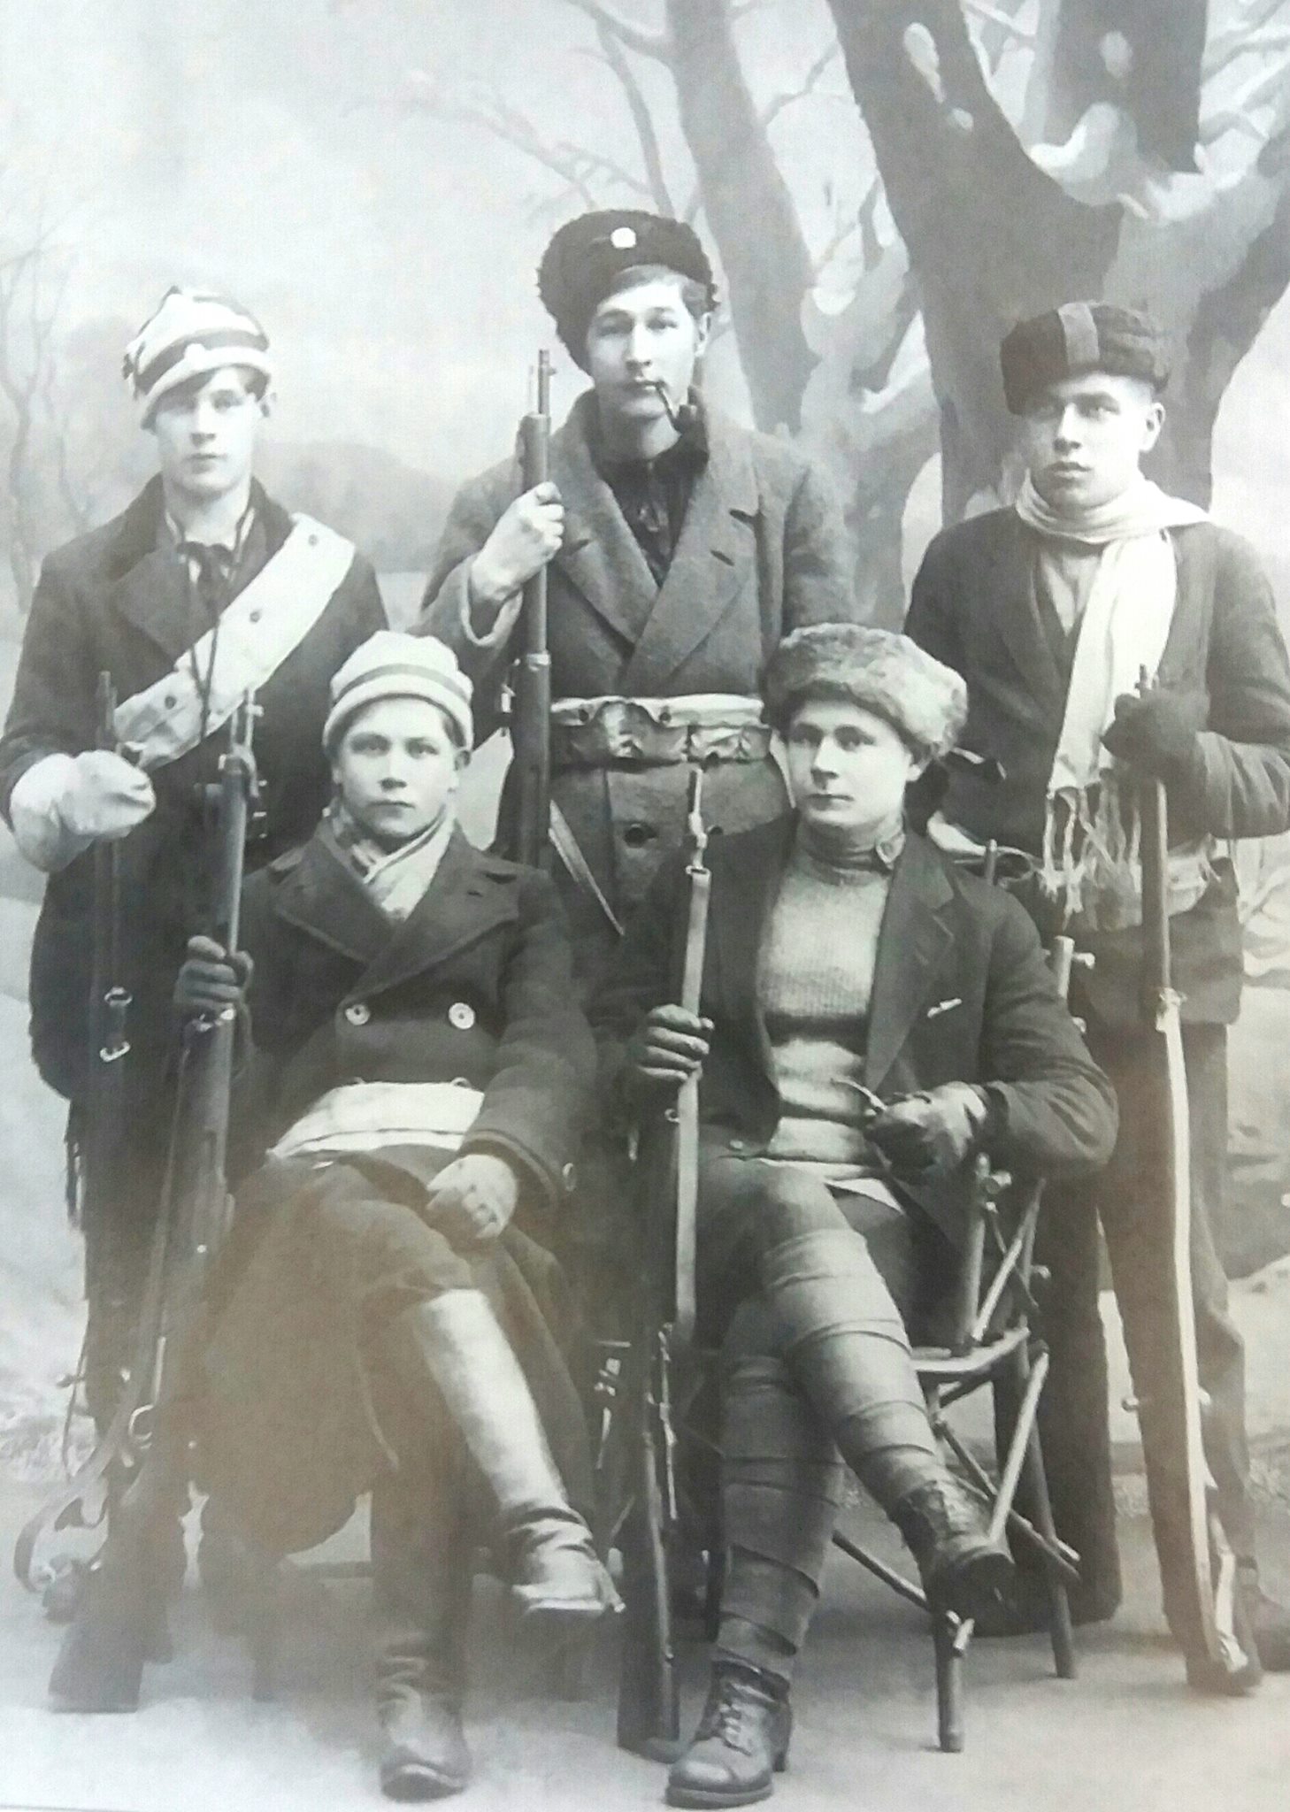
[[[49,875],[31,957],[36,1067],[85,1134],[94,946],[92,848],[121,844],[129,1187],[85,1225],[87,1395],[103,1426],[129,1363],[170,1120],[172,989],[208,910],[205,786],[228,718],[255,694],[261,776],[248,848],[261,866],[326,805],[328,683],[384,609],[368,562],[252,477],[272,361],[225,297],[170,290],[125,353],[159,473],[123,515],[49,556],[0,741],[0,806]],[[98,681],[123,754],[96,747]]]

